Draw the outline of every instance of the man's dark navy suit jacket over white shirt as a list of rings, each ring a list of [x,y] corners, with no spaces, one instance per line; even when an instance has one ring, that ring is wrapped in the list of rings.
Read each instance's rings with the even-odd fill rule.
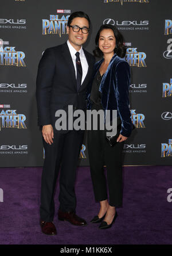
[[[95,58],[85,50],[84,54],[88,72],[77,91],[75,68],[67,43],[45,50],[36,81],[38,125],[52,124],[54,127],[56,110],[68,111],[68,105],[73,105],[73,110],[87,108],[85,94],[92,78]]]

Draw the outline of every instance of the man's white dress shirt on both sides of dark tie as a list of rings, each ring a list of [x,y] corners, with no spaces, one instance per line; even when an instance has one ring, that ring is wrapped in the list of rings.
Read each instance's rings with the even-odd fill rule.
[[[71,53],[71,57],[73,60],[73,66],[75,67],[75,75],[77,76],[77,70],[76,70],[76,49],[69,43],[69,40],[67,41],[68,47],[69,47],[69,51]],[[82,81],[81,81],[81,85],[87,75],[88,72],[88,63],[87,63],[87,59],[85,58],[85,54],[83,51],[83,47],[81,46],[81,49],[79,50],[80,53],[80,60],[81,60],[81,66],[82,66],[82,70],[83,70],[83,77],[82,77]]]

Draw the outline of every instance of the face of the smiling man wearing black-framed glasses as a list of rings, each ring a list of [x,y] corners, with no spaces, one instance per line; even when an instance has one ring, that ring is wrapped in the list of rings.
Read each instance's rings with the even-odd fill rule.
[[[87,18],[74,18],[71,22],[70,26],[79,26],[80,28],[89,28],[89,23]],[[73,29],[69,26],[67,26],[67,33],[69,35],[69,42],[72,44],[72,46],[75,47],[81,47],[87,41],[88,33],[84,34],[81,29],[79,32],[74,32]]]

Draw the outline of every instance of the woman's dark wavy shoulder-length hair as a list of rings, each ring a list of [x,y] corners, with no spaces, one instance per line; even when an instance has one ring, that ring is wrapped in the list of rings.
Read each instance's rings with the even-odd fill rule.
[[[102,57],[103,56],[103,52],[101,52],[100,48],[99,48],[99,37],[100,37],[100,32],[103,29],[112,29],[112,31],[114,32],[114,36],[116,39],[116,47],[114,49],[114,52],[120,57],[120,58],[124,58],[124,56],[126,55],[126,47],[124,45],[124,37],[123,35],[119,32],[119,30],[116,28],[116,26],[110,25],[110,24],[105,24],[100,26],[99,31],[97,32],[96,35],[96,39],[95,39],[95,43],[96,43],[96,49],[93,51],[93,54],[96,57]]]

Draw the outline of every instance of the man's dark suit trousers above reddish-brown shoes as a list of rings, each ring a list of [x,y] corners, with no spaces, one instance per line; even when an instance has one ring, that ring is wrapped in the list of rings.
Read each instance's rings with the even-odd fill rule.
[[[63,212],[75,211],[75,178],[77,161],[83,143],[84,133],[69,131],[54,132],[53,144],[49,145],[43,139],[45,161],[41,179],[40,217],[44,221],[53,221],[54,189],[60,169],[60,209]]]

